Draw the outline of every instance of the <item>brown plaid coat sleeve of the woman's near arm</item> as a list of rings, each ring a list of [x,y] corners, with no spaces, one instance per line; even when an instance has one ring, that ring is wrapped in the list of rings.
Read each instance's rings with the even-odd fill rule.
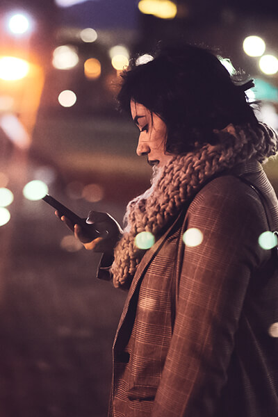
[[[176,320],[152,417],[215,414],[250,277],[270,252],[258,244],[268,228],[249,188],[218,179],[188,208],[185,227],[199,229],[203,240],[184,245]]]

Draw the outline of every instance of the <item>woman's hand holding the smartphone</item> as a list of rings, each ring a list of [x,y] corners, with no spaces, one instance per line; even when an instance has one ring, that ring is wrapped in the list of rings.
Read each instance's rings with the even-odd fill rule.
[[[113,254],[113,249],[122,235],[122,228],[111,215],[99,211],[90,211],[86,223],[92,224],[92,227],[99,233],[99,237],[90,240],[85,236],[79,224],[72,224],[64,215],[60,216],[58,211],[55,214],[74,232],[74,236],[83,243],[86,250]]]

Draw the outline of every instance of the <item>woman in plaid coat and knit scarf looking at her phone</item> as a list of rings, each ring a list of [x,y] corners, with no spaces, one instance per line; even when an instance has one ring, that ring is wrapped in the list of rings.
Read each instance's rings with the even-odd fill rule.
[[[152,186],[129,203],[123,232],[105,213],[88,218],[105,238],[87,242],[75,226],[104,252],[99,277],[129,289],[109,416],[278,415],[276,258],[258,243],[278,228],[261,167],[277,135],[256,120],[251,86],[188,45],[122,74],[120,107],[140,129]],[[154,236],[147,250],[142,232]]]

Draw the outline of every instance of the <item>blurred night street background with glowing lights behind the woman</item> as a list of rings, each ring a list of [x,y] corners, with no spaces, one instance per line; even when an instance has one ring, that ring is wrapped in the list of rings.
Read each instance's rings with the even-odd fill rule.
[[[278,129],[278,3],[1,0],[0,24],[0,415],[104,417],[125,294],[40,198],[122,222],[149,186],[115,94],[158,40],[218,47]],[[265,170],[278,190],[277,162]]]

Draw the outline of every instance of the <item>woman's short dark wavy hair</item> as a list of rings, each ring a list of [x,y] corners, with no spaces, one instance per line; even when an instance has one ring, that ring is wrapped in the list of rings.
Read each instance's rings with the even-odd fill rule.
[[[143,104],[167,126],[165,151],[184,154],[215,143],[214,129],[258,121],[245,90],[252,80],[234,81],[213,51],[185,44],[159,47],[153,60],[137,65],[131,59],[121,74],[118,108],[130,112],[130,101]]]

